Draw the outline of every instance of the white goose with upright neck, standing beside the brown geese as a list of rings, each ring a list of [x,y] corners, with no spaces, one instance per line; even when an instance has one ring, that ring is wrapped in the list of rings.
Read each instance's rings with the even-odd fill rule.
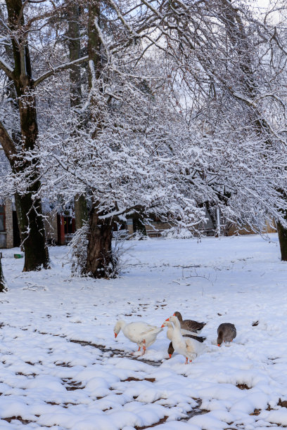
[[[180,323],[176,316],[172,315],[168,320],[174,324],[174,330],[172,332],[172,346],[174,351],[181,354],[186,358],[185,364],[188,360],[191,362],[194,356],[198,356],[203,351],[203,345],[197,340],[189,337],[182,337],[180,332]]]

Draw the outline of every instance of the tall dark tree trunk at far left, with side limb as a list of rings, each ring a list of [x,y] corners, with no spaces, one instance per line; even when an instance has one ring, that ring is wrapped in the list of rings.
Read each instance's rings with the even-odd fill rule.
[[[17,34],[17,39],[12,39],[14,61],[12,79],[18,97],[21,145],[23,150],[33,150],[38,137],[38,124],[29,48],[27,39],[25,36],[21,36],[21,32],[25,34],[23,1],[6,0],[6,6],[10,30]],[[25,174],[28,170],[32,172],[29,175],[31,185],[27,188],[25,195],[17,195],[15,198],[19,230],[25,251],[23,270],[34,271],[42,267],[49,268],[42,205],[39,199],[33,198],[40,187],[37,179],[37,160],[25,162],[22,159],[20,163],[16,162],[18,157],[17,145],[3,129],[0,138],[2,138],[1,143],[13,172],[15,174]]]

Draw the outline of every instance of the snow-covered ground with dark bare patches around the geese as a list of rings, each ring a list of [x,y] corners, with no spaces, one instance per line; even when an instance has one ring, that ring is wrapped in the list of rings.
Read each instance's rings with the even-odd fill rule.
[[[287,263],[276,235],[133,243],[115,280],[70,276],[66,247],[49,271],[22,273],[4,250],[0,429],[215,430],[287,426]],[[146,356],[117,319],[205,321],[205,351],[168,360],[166,329]],[[218,347],[217,327],[237,337]]]

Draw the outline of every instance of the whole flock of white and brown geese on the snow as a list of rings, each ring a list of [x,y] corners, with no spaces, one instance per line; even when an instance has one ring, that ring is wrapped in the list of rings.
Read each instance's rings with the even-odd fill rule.
[[[174,351],[186,358],[185,364],[191,362],[195,356],[198,356],[203,351],[203,341],[206,337],[200,337],[199,334],[206,323],[198,323],[193,320],[183,320],[180,312],[174,312],[170,318],[167,318],[161,327],[155,327],[148,323],[136,322],[125,323],[123,320],[117,321],[114,327],[115,337],[122,330],[127,339],[139,346],[137,352],[143,348],[141,355],[146,352],[146,348],[151,346],[158,333],[162,332],[163,327],[167,327],[167,339],[170,339],[170,345],[167,353],[170,358]],[[196,334],[191,334],[196,333]],[[234,324],[222,323],[217,328],[217,345],[222,342],[231,342],[236,337],[236,328]]]

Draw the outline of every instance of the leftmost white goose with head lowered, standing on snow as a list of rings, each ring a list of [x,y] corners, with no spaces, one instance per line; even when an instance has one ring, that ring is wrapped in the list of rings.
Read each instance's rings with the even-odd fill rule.
[[[117,337],[117,334],[120,333],[120,330],[122,330],[127,339],[134,342],[135,344],[138,344],[138,351],[140,351],[141,347],[143,348],[143,353],[141,354],[142,356],[144,356],[146,348],[155,342],[158,333],[162,332],[162,328],[155,327],[155,325],[141,322],[127,324],[123,320],[119,320],[115,324],[115,337]]]

